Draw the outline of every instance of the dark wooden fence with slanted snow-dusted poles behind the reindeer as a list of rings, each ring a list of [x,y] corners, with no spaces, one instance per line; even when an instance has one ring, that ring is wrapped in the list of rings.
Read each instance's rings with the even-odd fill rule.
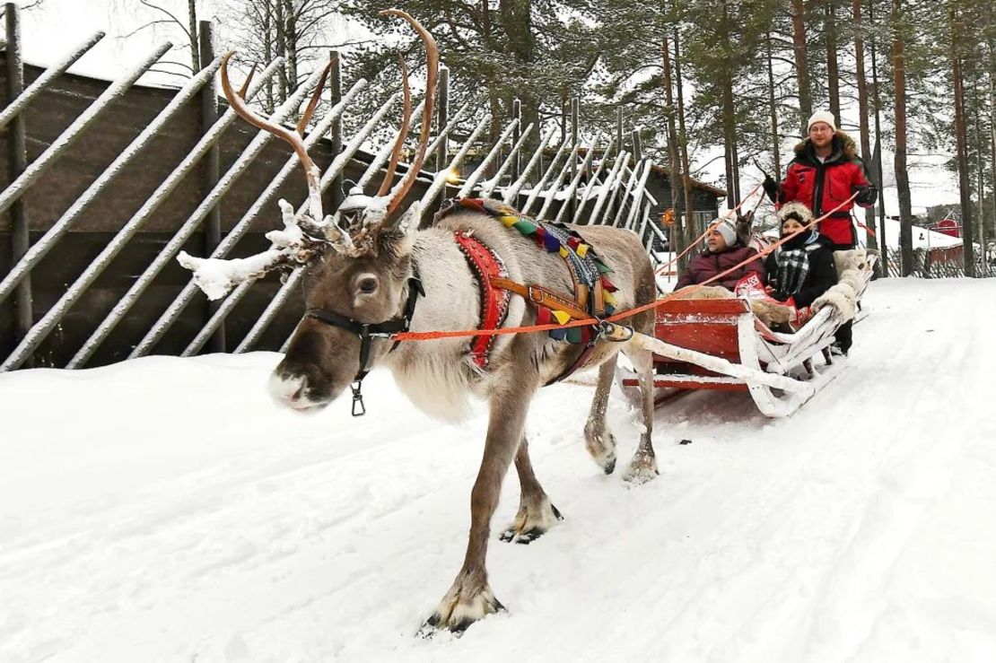
[[[174,260],[180,250],[256,253],[267,244],[263,233],[279,223],[276,201],[305,199],[290,149],[218,100],[213,81],[220,61],[209,39],[202,70],[180,90],[163,90],[134,83],[169,44],[153,46],[108,84],[66,74],[102,34],[43,70],[20,62],[13,3],[5,21],[0,371],[96,366],[153,352],[281,348],[302,313],[296,278],[283,284],[266,278],[208,304]],[[208,24],[201,28],[209,34]],[[278,65],[257,75],[250,98]],[[338,67],[336,59],[329,110],[306,137],[330,211],[342,200],[344,180],[373,193],[389,141],[376,145],[372,136],[391,125],[399,105],[391,98],[359,118],[354,135],[343,136],[344,113],[366,83],[341,89]],[[305,81],[272,118],[294,119],[317,79]],[[443,76],[437,94],[445,99],[447,90]],[[650,216],[657,201],[647,191],[654,166],[639,154],[635,134],[623,133],[621,123],[614,136],[585,137],[577,117],[562,136],[538,135],[539,127],[521,126],[513,116],[492,144],[483,105],[440,113],[426,160],[434,169],[420,173],[410,200],[420,199],[430,219],[444,197],[492,195],[526,214],[627,227],[647,246],[662,240]],[[531,154],[521,153],[527,141],[538,145]],[[471,152],[480,157],[476,165],[467,160]],[[461,166],[464,177],[451,181]]]

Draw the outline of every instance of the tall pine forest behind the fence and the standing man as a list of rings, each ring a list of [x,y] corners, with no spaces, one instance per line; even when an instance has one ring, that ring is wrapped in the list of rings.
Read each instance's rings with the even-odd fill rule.
[[[688,236],[697,231],[690,177],[721,160],[732,206],[752,188],[745,170],[782,175],[806,118],[832,110],[859,142],[872,179],[894,173],[904,264],[912,264],[911,154],[948,155],[966,267],[974,245],[996,236],[996,9],[986,0],[111,2],[136,2],[155,17],[147,27],[185,34],[181,76],[198,68],[200,19],[215,21],[215,39],[239,49],[246,68],[283,56],[263,96],[269,108],[330,49],[343,53],[345,85],[371,82],[364,105],[397,90],[396,51],[417,78],[420,46],[378,16],[404,9],[439,43],[451,104],[483,101],[494,118],[492,138],[515,99],[524,122],[548,130],[567,130],[575,97],[590,129],[611,132],[622,107],[626,123],[640,127],[644,151],[668,167],[675,211],[688,212]],[[332,43],[328,26],[344,18],[352,34]],[[867,213],[872,226],[874,212]]]

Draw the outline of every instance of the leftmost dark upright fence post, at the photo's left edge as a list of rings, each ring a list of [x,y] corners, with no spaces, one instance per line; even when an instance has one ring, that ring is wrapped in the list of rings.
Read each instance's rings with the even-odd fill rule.
[[[7,13],[7,100],[13,102],[24,92],[24,63],[21,62],[21,14],[14,2],[5,5]],[[24,113],[20,112],[7,126],[10,136],[7,143],[7,169],[13,182],[28,167],[27,135]],[[10,208],[11,216],[11,265],[16,265],[31,244],[28,223],[28,206],[24,197],[18,198]],[[31,275],[27,275],[17,286],[13,299],[14,333],[20,341],[31,330],[34,320],[31,298]],[[24,364],[33,365],[33,357]]]

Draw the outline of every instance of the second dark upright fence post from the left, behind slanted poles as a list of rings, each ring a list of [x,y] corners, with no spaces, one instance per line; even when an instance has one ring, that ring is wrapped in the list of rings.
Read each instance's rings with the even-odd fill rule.
[[[198,48],[200,51],[200,68],[204,69],[214,60],[214,40],[212,39],[213,29],[210,21],[199,21],[197,34]],[[218,96],[214,92],[213,85],[205,85],[200,93],[200,132],[203,134],[218,119]],[[221,149],[217,144],[208,150],[204,155],[204,164],[201,170],[201,188],[206,194],[218,183],[220,173]],[[221,203],[218,202],[204,219],[204,255],[209,256],[221,243]],[[211,320],[211,316],[218,310],[219,302],[208,302],[205,311],[204,322]],[[207,351],[225,351],[225,326],[224,324],[214,332],[210,340],[207,341]]]

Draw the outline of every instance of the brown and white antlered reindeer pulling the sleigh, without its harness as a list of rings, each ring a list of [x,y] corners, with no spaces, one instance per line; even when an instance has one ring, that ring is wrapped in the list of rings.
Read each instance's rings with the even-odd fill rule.
[[[323,218],[318,170],[308,157],[300,130],[274,125],[249,110],[232,93],[226,58],[221,68],[225,96],[246,120],[294,146],[308,179],[308,209],[295,216],[294,210],[281,201],[285,229],[268,234],[274,248],[264,254],[241,261],[205,261],[182,254],[180,262],[195,271],[198,284],[215,298],[239,281],[281,266],[301,265],[307,270],[307,313],[269,380],[273,398],[283,406],[302,411],[321,408],[350,386],[354,405],[359,401],[362,406],[361,382],[374,366],[390,369],[400,389],[416,406],[443,420],[464,417],[470,395],[488,401],[484,456],[470,495],[466,556],[452,586],[421,631],[460,632],[503,609],[488,583],[485,556],[491,517],[513,459],[521,501],[514,522],[500,539],[528,544],[562,520],[533,471],[524,425],[536,391],[562,375],[583,350],[544,333],[496,335],[492,336],[489,361],[481,367],[470,360],[465,337],[398,343],[389,334],[473,330],[481,324],[482,285],[457,247],[455,238],[461,235],[472,235],[500,257],[510,280],[568,292],[575,284],[556,254],[542,251],[534,241],[485,213],[458,209],[432,227],[418,230],[418,204],[401,209],[425,156],[439,55],[431,35],[413,18],[399,10],[383,14],[410,24],[424,42],[427,54],[420,137],[414,160],[404,176],[390,188],[411,112],[403,68],[404,120],[378,195],[367,197],[354,191],[340,213]],[[349,211],[349,218],[344,210]],[[579,231],[612,266],[620,311],[654,300],[653,270],[633,233],[602,226],[583,226]],[[211,286],[217,286],[219,279],[223,287],[212,295]],[[538,310],[523,298],[511,296],[503,327],[533,325],[537,315]],[[630,325],[635,331],[652,333],[652,310],[632,317]],[[581,367],[598,366],[599,373],[584,428],[585,442],[598,466],[611,474],[616,467],[616,439],[607,428],[605,414],[620,350],[637,369],[642,389],[643,430],[624,473],[626,481],[639,484],[658,474],[650,440],[653,403],[648,351],[628,341],[609,339],[598,340],[590,350]]]

